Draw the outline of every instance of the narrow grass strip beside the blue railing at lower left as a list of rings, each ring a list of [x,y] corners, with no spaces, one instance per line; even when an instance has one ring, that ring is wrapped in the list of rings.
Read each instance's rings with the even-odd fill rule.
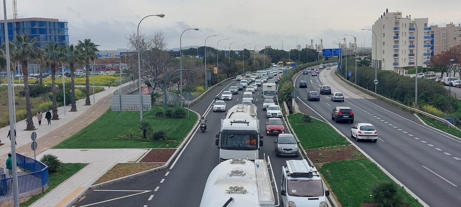
[[[49,188],[45,192],[32,196],[29,201],[21,203],[20,207],[28,207],[33,202],[37,201],[41,197],[45,196],[49,191],[53,190],[56,186],[64,182],[66,179],[70,178],[72,175],[77,173],[80,169],[85,167],[87,164],[83,163],[63,163],[62,169],[56,173],[49,173]]]

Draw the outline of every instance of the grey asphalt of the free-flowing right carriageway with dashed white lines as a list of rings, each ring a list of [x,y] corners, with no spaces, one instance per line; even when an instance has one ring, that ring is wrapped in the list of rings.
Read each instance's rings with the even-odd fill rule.
[[[461,142],[343,83],[334,75],[335,68],[322,70],[317,77],[300,74],[296,78],[295,87],[300,92],[296,103],[301,112],[323,117],[347,137],[355,123],[372,123],[378,130],[378,142],[349,139],[429,206],[460,206]],[[308,87],[299,89],[300,80],[306,80]],[[321,95],[320,101],[307,101],[308,91],[319,91],[322,85],[331,86],[332,92],[342,92],[345,101],[333,102],[330,95]],[[351,107],[355,123],[331,120],[331,110],[336,106]]]

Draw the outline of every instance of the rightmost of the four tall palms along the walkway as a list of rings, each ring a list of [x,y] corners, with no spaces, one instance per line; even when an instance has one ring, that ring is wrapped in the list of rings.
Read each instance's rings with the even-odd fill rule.
[[[91,42],[91,39],[85,39],[82,41],[78,40],[77,44],[77,49],[80,50],[80,52],[86,57],[85,58],[85,67],[86,67],[86,100],[85,100],[85,105],[89,106],[91,105],[91,101],[89,100],[89,61],[90,60],[95,60],[97,58],[96,52],[99,52],[98,47],[99,45],[96,45],[95,43]]]

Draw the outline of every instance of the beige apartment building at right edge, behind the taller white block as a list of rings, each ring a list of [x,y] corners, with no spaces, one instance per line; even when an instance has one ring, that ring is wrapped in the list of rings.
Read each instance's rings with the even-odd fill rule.
[[[451,47],[461,44],[461,24],[455,26],[450,22],[446,27],[438,25],[431,26],[431,48],[433,55],[437,55],[442,51],[449,50]]]

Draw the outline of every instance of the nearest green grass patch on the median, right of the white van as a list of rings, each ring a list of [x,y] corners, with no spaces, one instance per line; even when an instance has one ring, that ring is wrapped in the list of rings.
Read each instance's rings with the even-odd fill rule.
[[[369,159],[329,162],[319,168],[326,183],[343,207],[361,207],[361,202],[371,202],[370,189],[379,180],[391,179]],[[422,207],[405,190],[400,192],[410,207]]]

